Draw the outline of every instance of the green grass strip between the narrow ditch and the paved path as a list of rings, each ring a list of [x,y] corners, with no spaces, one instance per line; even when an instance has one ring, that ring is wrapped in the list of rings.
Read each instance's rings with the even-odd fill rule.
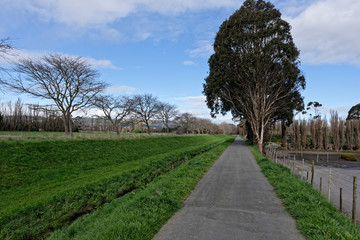
[[[173,171],[83,216],[50,239],[152,239],[161,226],[181,208],[211,165],[234,137],[210,151],[189,159]]]

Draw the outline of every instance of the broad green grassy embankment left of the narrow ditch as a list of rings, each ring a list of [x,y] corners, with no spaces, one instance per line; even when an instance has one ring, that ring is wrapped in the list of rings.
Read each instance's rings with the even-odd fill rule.
[[[0,142],[0,238],[38,239],[228,136]]]

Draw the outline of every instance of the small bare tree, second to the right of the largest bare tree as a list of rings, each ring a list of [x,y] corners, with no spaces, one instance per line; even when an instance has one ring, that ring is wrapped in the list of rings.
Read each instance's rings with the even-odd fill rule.
[[[133,98],[133,112],[136,118],[145,123],[147,132],[150,135],[150,122],[159,113],[159,100],[152,94],[138,94]]]

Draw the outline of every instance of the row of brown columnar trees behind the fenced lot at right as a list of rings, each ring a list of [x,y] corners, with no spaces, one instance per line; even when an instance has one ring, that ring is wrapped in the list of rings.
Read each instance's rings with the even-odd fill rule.
[[[281,133],[282,146],[295,149],[360,149],[360,120],[357,118],[340,119],[331,112],[327,119],[294,120],[284,132],[280,123],[275,124],[273,133]]]

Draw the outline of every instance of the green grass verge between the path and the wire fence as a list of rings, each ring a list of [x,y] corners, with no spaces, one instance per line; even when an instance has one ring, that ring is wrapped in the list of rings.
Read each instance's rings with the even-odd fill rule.
[[[320,192],[292,175],[288,168],[263,157],[250,146],[256,161],[268,178],[297,228],[307,239],[360,239],[360,229],[340,213]]]

